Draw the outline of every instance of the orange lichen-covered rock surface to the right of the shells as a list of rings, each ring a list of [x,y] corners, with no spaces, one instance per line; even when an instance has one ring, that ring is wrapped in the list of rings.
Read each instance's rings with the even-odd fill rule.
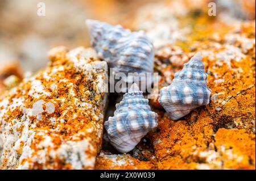
[[[135,16],[133,29],[144,30],[154,43],[159,89],[201,52],[212,90],[207,106],[178,121],[160,106],[158,90],[151,93],[158,128],[129,154],[154,169],[255,169],[255,20],[208,16],[207,4],[170,1],[145,6]]]

